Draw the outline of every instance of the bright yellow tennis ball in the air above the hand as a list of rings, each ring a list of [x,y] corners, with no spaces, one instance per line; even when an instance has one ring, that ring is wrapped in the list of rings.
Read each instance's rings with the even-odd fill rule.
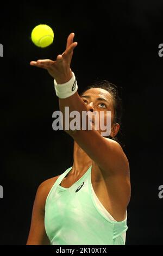
[[[52,44],[54,32],[51,27],[40,24],[33,29],[31,39],[36,46],[44,48]]]

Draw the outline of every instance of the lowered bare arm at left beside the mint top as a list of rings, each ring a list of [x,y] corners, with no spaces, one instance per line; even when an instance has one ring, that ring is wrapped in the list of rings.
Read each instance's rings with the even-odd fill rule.
[[[44,224],[45,202],[47,194],[48,190],[46,182],[42,182],[42,184],[37,188],[34,200],[32,221],[30,224],[27,245],[50,245]]]

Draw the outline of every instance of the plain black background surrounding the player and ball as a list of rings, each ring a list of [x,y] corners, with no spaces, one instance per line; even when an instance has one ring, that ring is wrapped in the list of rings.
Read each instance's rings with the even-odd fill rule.
[[[73,164],[73,141],[53,131],[59,109],[53,78],[31,60],[55,59],[75,33],[72,70],[79,90],[96,80],[122,88],[122,133],[130,163],[127,245],[162,244],[163,2],[1,2],[0,244],[26,244],[37,187]],[[32,29],[45,23],[54,42],[38,48]]]

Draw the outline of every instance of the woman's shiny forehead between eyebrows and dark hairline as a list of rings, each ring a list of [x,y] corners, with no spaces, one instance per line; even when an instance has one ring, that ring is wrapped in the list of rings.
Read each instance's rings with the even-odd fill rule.
[[[102,88],[91,88],[89,90],[86,90],[85,93],[82,94],[82,96],[87,95],[90,97],[103,97],[105,100],[112,100],[111,94]]]

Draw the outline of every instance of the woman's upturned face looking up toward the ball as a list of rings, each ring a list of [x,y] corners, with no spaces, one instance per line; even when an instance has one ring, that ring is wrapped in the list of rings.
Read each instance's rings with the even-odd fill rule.
[[[104,112],[104,125],[106,126],[106,113],[107,111],[111,111],[111,133],[110,136],[114,137],[116,136],[120,125],[114,123],[114,105],[113,105],[113,99],[109,92],[107,92],[104,89],[101,88],[91,88],[89,90],[86,90],[85,93],[80,96],[82,100],[85,102],[85,105],[87,107],[87,111],[97,111],[99,114],[99,117],[101,116],[100,112]],[[95,118],[93,118],[94,122]],[[99,118],[99,132],[103,132],[100,129],[100,122],[101,119]]]

